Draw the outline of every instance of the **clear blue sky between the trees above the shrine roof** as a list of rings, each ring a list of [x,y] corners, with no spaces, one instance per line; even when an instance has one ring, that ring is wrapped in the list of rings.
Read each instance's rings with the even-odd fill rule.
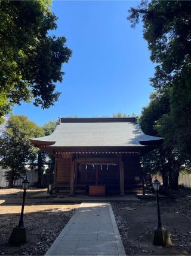
[[[123,112],[140,115],[149,103],[149,77],[154,64],[140,23],[131,28],[128,10],[138,1],[53,1],[58,28],[53,33],[67,38],[73,54],[54,107],[42,110],[21,103],[14,114],[27,115],[42,125],[50,119],[78,115],[110,116]]]

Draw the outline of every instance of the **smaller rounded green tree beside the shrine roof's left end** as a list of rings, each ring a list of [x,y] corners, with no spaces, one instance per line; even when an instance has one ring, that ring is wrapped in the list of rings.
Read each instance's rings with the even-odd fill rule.
[[[33,163],[36,149],[29,141],[30,137],[44,135],[42,128],[29,121],[26,116],[12,115],[7,128],[0,138],[0,156],[2,167],[7,168],[5,177],[11,187],[26,172],[26,164]]]

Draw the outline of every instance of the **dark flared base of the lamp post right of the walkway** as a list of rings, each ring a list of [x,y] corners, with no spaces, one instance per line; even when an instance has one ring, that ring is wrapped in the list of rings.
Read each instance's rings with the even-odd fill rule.
[[[155,229],[152,233],[152,244],[156,246],[172,246],[168,231],[164,229]]]

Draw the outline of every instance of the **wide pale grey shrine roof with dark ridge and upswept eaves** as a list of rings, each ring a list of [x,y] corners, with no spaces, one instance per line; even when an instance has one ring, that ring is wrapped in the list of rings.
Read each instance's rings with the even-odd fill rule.
[[[49,148],[143,147],[163,138],[144,134],[135,118],[61,118],[51,135],[30,141]]]

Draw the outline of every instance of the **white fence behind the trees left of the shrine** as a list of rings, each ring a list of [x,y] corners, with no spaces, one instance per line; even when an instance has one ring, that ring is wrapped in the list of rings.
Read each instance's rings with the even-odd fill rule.
[[[8,186],[8,182],[4,177],[5,171],[6,170],[3,170],[0,167],[0,187]],[[35,183],[38,182],[38,170],[27,170],[26,175],[27,175],[27,179],[30,181],[30,186],[34,186]],[[15,186],[21,186],[22,182],[23,182],[23,179],[16,180]]]

